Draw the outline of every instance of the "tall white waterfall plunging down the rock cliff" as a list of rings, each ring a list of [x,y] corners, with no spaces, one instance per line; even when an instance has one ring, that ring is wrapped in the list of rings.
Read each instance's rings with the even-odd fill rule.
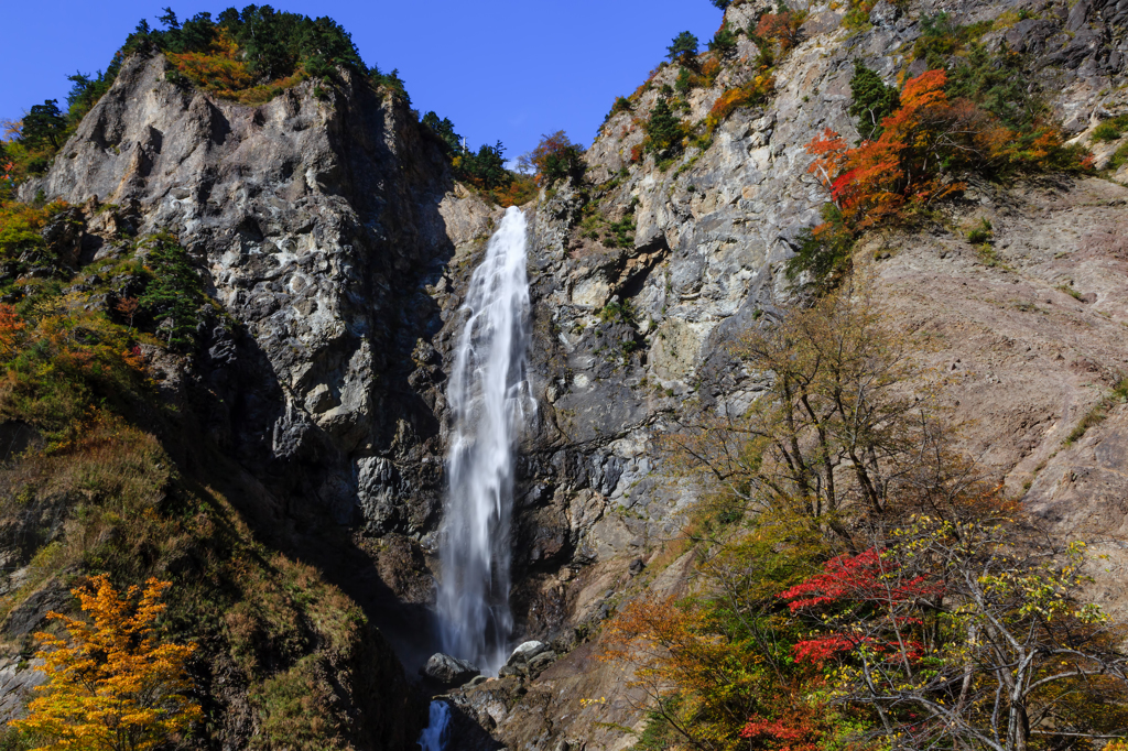
[[[474,271],[462,306],[447,399],[453,416],[449,495],[440,537],[439,619],[447,654],[483,672],[504,664],[509,609],[509,524],[517,441],[536,403],[525,351],[529,339],[528,223],[509,209]]]

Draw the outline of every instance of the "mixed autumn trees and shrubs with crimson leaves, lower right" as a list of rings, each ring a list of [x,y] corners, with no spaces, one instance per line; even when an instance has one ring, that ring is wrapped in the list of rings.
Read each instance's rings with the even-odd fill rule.
[[[872,293],[785,308],[737,352],[775,373],[741,416],[666,440],[712,488],[687,598],[642,597],[606,660],[638,749],[1089,749],[1128,725],[1125,626],[1055,540],[961,459]]]

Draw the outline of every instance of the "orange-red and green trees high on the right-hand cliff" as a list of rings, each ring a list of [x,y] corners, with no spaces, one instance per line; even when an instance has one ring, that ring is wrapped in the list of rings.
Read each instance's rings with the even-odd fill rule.
[[[863,232],[919,221],[970,176],[1092,169],[1089,151],[1065,143],[1037,91],[1022,83],[1022,56],[976,42],[990,24],[959,26],[940,14],[922,26],[914,54],[931,69],[898,90],[855,61],[848,112],[858,143],[827,129],[808,144],[810,171],[830,201],[825,222],[788,262],[793,280],[805,272],[816,285],[835,284]]]

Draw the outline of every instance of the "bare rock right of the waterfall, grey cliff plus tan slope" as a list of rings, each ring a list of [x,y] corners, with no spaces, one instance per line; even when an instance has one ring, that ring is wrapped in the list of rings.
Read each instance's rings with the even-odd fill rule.
[[[746,3],[726,18],[746,27],[760,10]],[[704,151],[690,148],[666,170],[652,158],[632,164],[643,139],[636,118],[662,85],[672,87],[676,67],[652,74],[634,112],[609,118],[588,152],[588,175],[607,223],[633,215],[632,247],[594,240],[573,192],[539,206],[535,357],[545,398],[525,502],[536,524],[526,536],[536,542],[523,586],[539,587],[527,594],[531,634],[552,635],[557,613],[598,622],[631,592],[685,585],[688,562],[670,564],[662,550],[693,488],[663,478],[651,439],[689,401],[740,408],[754,398],[757,379],[730,362],[725,342],[792,294],[778,262],[826,201],[807,174],[804,144],[827,126],[854,132],[846,115],[854,59],[887,80],[922,72],[910,54],[920,18],[948,10],[961,23],[996,20],[984,42],[1028,55],[1032,80],[1077,141],[1089,143],[1102,118],[1123,108],[1128,18],[1119,6],[881,2],[855,30],[834,7],[809,10],[770,103],[738,111]],[[1038,18],[1006,21],[1019,10]],[[704,118],[725,87],[749,80],[742,62],[754,56],[741,38],[716,86],[687,97],[688,118]],[[1119,143],[1098,145],[1099,158]],[[935,334],[936,348],[922,357],[953,376],[945,400],[969,456],[1059,533],[1109,555],[1093,572],[1093,594],[1119,613],[1128,604],[1128,407],[1109,395],[1128,373],[1128,189],[1113,182],[1123,176],[1121,168],[1111,180],[977,185],[932,231],[872,237],[856,256],[898,321]],[[966,237],[980,219],[995,228],[987,255]],[[629,317],[618,312],[627,302]],[[565,635],[557,648],[567,646]],[[598,653],[597,638],[538,678],[487,683],[455,703],[508,748],[625,748],[635,736],[623,728],[642,726],[640,697]]]

